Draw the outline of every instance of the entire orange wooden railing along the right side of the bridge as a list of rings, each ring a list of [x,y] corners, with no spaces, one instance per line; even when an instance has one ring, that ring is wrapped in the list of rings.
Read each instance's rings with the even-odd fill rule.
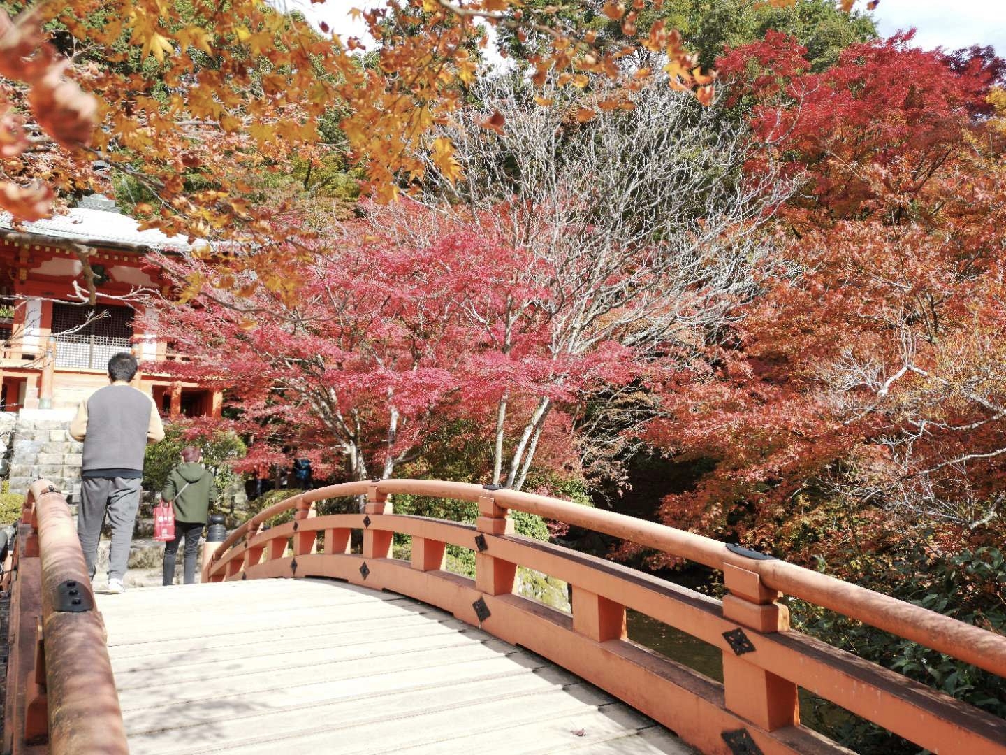
[[[475,501],[474,525],[392,513],[394,493]],[[314,503],[365,495],[363,513],[315,516]],[[263,528],[294,509],[294,520]],[[721,570],[722,601],[513,534],[509,509],[539,514]],[[350,553],[352,531],[362,552]],[[410,561],[391,558],[395,533]],[[319,552],[319,535],[323,550]],[[474,580],[445,571],[445,548],[475,552]],[[518,566],[572,586],[572,615],[513,594]],[[1006,637],[744,549],[569,501],[433,480],[353,482],[281,501],[238,526],[203,581],[309,576],[387,589],[451,611],[608,690],[707,753],[847,753],[800,725],[805,689],[933,752],[1006,755],[1006,721],[790,629],[783,594],[1006,676]],[[631,642],[626,609],[722,652],[719,684]]]

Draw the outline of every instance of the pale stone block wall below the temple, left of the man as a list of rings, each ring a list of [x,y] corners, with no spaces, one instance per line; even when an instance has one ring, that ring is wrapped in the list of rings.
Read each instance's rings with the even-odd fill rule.
[[[11,492],[23,493],[45,477],[65,494],[79,497],[83,446],[69,437],[68,409],[22,409],[14,425],[7,477]],[[0,425],[0,438],[3,426]]]

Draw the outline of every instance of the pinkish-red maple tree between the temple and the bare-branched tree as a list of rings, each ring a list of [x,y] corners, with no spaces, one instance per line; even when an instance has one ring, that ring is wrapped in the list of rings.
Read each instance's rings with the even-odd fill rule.
[[[464,230],[413,245],[360,220],[333,233],[337,251],[291,271],[300,280],[293,305],[268,289],[241,297],[208,285],[191,304],[164,302],[159,327],[201,357],[164,366],[205,376],[203,359],[215,365],[240,411],[233,427],[256,439],[243,466],[285,463],[297,446],[336,476],[388,477],[486,392],[534,369],[533,309],[509,370],[494,361],[484,327],[508,302],[532,297],[512,267],[531,262]]]

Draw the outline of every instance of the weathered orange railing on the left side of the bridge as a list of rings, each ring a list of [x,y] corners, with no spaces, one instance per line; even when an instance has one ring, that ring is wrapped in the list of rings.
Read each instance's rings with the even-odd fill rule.
[[[12,553],[4,753],[129,752],[105,624],[66,499],[28,489]]]

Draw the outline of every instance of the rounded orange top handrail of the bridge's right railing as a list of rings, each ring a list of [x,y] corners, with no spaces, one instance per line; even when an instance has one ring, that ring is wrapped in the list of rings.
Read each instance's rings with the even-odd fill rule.
[[[603,533],[712,569],[722,571],[727,565],[738,567],[758,574],[764,585],[771,590],[828,608],[958,660],[1006,676],[1006,636],[1001,634],[796,564],[774,558],[748,558],[730,551],[723,543],[695,533],[559,498],[508,488],[487,489],[468,482],[383,479],[315,488],[273,504],[235,528],[213,554],[206,569],[211,568],[249,528],[257,531],[260,524],[279,513],[327,498],[364,495],[371,489],[382,495],[426,495],[475,502],[489,497],[501,508],[514,508]]]

